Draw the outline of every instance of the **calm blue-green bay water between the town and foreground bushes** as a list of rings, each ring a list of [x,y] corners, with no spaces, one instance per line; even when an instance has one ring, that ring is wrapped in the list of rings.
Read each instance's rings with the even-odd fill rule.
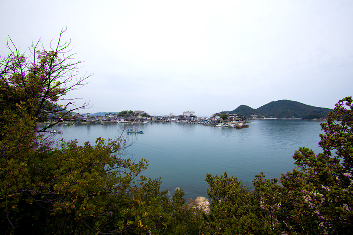
[[[139,125],[144,134],[126,134],[128,157],[145,158],[143,172],[152,179],[161,177],[161,189],[174,192],[180,187],[185,198],[207,197],[207,173],[233,175],[252,185],[256,174],[279,178],[295,167],[292,156],[299,147],[321,152],[320,123],[303,120],[252,120],[249,128],[233,129],[178,123]],[[98,137],[115,138],[131,125],[88,124],[61,126],[65,140],[94,143]]]

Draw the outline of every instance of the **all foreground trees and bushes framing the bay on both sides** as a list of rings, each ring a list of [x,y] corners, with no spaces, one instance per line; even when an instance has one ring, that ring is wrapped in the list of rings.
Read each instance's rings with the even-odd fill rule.
[[[127,158],[122,137],[54,144],[48,127],[37,129],[77,109],[71,100],[57,108],[87,78],[77,78],[68,46],[37,44],[26,57],[9,45],[1,57],[0,234],[353,234],[352,97],[321,124],[323,153],[300,148],[297,168],[279,181],[259,174],[249,188],[226,172],[207,174],[206,215],[182,191],[168,199],[160,179],[143,177],[147,161]]]

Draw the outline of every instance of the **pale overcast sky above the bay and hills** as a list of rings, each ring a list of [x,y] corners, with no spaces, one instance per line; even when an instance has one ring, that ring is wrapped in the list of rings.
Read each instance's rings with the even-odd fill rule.
[[[0,0],[0,54],[71,39],[84,112],[196,115],[353,95],[353,0]]]

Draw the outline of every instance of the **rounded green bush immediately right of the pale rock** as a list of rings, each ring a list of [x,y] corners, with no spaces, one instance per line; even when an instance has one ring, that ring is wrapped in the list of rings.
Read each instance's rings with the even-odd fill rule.
[[[258,216],[262,211],[250,188],[226,172],[222,176],[207,174],[206,181],[214,217],[210,226],[216,234],[262,234]]]

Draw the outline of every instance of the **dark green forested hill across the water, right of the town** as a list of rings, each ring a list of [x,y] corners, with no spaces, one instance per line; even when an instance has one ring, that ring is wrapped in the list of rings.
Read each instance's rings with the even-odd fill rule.
[[[239,114],[250,117],[258,115],[265,118],[302,118],[302,119],[320,119],[327,118],[332,109],[320,108],[297,101],[278,100],[272,101],[260,108],[253,109],[246,105],[240,105],[238,108],[230,111],[232,114]],[[227,112],[221,112],[227,113]]]

